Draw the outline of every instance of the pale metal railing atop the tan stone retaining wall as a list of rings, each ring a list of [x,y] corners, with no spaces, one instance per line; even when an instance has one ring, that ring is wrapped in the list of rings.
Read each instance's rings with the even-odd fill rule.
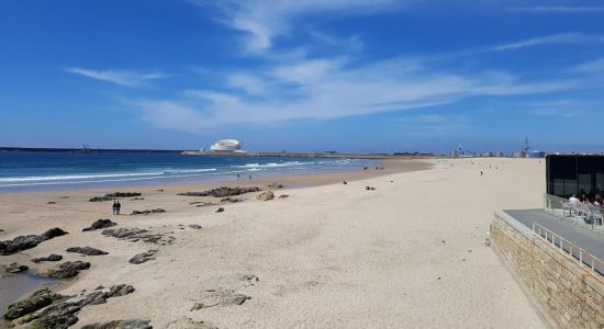
[[[533,232],[552,248],[568,256],[580,266],[591,270],[594,275],[604,276],[604,261],[597,257],[535,222],[533,222]]]

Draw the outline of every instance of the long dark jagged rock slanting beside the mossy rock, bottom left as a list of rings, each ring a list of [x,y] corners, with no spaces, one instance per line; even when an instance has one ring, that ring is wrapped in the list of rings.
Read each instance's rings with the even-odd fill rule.
[[[30,313],[22,317],[21,322],[32,322],[30,328],[67,328],[78,322],[77,314],[85,306],[104,304],[111,297],[125,296],[132,292],[132,285],[114,285],[109,291],[96,291],[82,298],[71,298]]]

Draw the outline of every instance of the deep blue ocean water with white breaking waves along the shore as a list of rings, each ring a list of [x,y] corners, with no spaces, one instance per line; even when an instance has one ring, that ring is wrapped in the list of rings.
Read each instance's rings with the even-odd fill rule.
[[[0,193],[204,183],[376,166],[361,159],[195,157],[176,154],[0,154]],[[237,177],[238,175],[238,177]]]

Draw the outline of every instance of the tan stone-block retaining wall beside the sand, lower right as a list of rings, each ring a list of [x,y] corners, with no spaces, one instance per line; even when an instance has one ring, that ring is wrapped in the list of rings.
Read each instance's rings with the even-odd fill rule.
[[[503,212],[495,213],[491,245],[555,326],[604,328],[604,277],[581,268]]]

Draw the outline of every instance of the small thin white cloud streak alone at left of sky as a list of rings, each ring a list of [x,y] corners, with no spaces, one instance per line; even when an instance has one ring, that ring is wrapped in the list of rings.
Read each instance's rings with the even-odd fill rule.
[[[144,73],[130,70],[113,69],[92,70],[79,67],[65,68],[65,71],[124,87],[142,87],[152,80],[163,79],[167,77],[167,75],[160,72]]]

